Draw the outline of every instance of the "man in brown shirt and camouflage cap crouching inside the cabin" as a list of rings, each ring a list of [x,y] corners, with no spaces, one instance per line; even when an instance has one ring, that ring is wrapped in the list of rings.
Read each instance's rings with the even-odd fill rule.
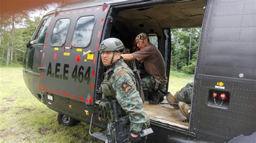
[[[142,85],[145,98],[148,98],[150,104],[158,104],[163,101],[164,95],[159,90],[165,90],[167,82],[166,67],[163,56],[157,47],[151,45],[146,33],[140,33],[136,39],[139,51],[131,54],[122,54],[124,60],[138,60],[144,63],[145,70],[149,76],[142,78]]]

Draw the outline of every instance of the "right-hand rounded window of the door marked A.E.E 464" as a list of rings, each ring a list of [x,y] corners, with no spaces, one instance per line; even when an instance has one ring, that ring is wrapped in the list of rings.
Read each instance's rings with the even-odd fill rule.
[[[86,16],[79,18],[77,20],[76,29],[73,35],[72,46],[87,47],[91,41],[91,35],[94,24],[94,16]]]

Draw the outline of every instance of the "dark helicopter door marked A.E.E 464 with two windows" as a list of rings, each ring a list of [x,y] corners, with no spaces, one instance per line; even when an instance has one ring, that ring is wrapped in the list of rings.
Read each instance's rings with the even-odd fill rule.
[[[98,46],[109,6],[62,10],[55,11],[45,36],[38,88],[51,106],[59,104],[55,97],[93,105]]]

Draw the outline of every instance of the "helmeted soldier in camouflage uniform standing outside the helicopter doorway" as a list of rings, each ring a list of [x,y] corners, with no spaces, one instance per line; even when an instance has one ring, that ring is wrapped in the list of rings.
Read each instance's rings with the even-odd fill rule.
[[[129,140],[138,141],[140,140],[138,132],[142,131],[145,123],[149,125],[149,116],[143,111],[143,102],[136,90],[134,74],[120,56],[124,52],[123,42],[117,38],[106,39],[100,44],[99,51],[103,65],[107,68],[101,84],[103,99],[99,103],[99,108],[104,109],[106,101],[116,99],[122,111],[125,112],[125,115],[122,114],[120,118],[130,120]],[[110,111],[106,111],[110,112],[109,117],[105,118],[109,122],[113,122],[111,108],[110,105]],[[103,115],[100,115],[99,119],[102,118],[104,118]]]

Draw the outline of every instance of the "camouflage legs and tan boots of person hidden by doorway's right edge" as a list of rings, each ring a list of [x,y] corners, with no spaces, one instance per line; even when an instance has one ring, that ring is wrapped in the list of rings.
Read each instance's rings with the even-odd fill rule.
[[[184,88],[177,91],[173,96],[171,94],[166,95],[166,100],[169,103],[178,103],[178,105],[172,105],[174,108],[179,109],[180,112],[187,118],[190,117],[190,105],[193,95],[193,82],[187,83]]]

